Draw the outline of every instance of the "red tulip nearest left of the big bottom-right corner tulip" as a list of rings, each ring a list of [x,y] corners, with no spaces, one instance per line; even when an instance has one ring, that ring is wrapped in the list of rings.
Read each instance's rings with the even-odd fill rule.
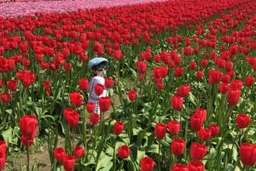
[[[207,146],[193,142],[190,148],[190,155],[195,160],[201,160],[207,154]]]

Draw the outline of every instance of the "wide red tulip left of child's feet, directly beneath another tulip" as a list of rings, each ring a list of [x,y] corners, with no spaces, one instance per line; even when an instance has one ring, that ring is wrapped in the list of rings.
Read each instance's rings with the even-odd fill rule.
[[[64,109],[63,114],[70,127],[75,127],[79,124],[79,113],[77,111],[66,108]]]

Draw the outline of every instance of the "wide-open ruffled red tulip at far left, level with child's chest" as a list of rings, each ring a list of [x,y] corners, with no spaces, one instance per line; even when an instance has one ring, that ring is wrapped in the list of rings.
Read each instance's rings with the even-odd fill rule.
[[[36,75],[30,70],[17,71],[16,77],[19,78],[19,80],[21,81],[21,83],[24,84],[25,87],[30,86],[36,79]]]

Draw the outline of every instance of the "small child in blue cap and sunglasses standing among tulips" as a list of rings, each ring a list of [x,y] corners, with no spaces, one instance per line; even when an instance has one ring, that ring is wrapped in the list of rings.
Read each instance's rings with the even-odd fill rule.
[[[93,76],[90,78],[90,83],[88,88],[88,92],[90,94],[88,102],[95,103],[96,109],[94,112],[97,114],[100,114],[100,107],[98,104],[98,100],[100,97],[108,96],[108,92],[107,92],[107,88],[104,88],[103,93],[100,96],[98,96],[95,93],[94,87],[97,83],[101,83],[102,85],[105,85],[105,77],[106,77],[106,72],[108,70],[108,60],[106,58],[96,57],[89,61],[88,66],[93,72]]]

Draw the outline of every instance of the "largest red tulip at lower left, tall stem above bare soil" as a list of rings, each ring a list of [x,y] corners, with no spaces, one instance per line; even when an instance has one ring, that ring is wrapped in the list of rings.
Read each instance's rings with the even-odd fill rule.
[[[19,123],[20,132],[26,138],[31,137],[33,139],[36,136],[38,131],[38,119],[35,115],[26,115],[21,117]]]

